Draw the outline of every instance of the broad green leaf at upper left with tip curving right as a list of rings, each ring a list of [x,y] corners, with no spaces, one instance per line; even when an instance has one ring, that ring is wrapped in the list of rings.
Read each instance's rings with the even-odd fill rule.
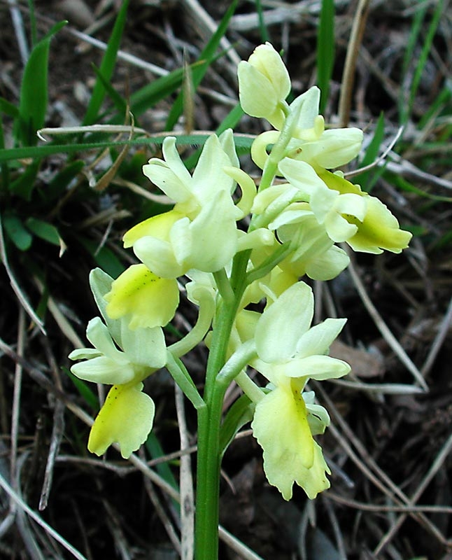
[[[36,144],[36,130],[44,125],[48,102],[50,39],[66,23],[57,23],[39,43],[36,43],[25,66],[20,85],[19,119],[15,127],[15,138],[24,146]]]

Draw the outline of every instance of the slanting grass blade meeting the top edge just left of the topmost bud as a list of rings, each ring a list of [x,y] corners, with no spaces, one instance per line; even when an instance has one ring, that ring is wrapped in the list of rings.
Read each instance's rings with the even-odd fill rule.
[[[218,29],[215,33],[211,36],[209,43],[204,47],[201,54],[199,55],[199,62],[202,62],[199,66],[192,67],[192,78],[193,78],[193,87],[196,91],[198,85],[201,83],[202,78],[206,71],[209,69],[209,66],[215,57],[215,52],[220,44],[221,39],[225,36],[227,26],[229,25],[229,20],[234,15],[234,11],[236,10],[238,0],[233,0],[223,19],[218,25]],[[181,116],[183,112],[183,94],[182,92],[178,94],[176,101],[174,102],[173,106],[171,107],[171,111],[168,116],[166,130],[172,130],[174,125],[176,125],[178,118]]]

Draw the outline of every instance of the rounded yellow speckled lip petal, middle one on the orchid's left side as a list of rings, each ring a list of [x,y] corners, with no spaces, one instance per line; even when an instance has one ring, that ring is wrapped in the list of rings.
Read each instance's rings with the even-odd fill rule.
[[[146,265],[132,265],[111,284],[105,296],[112,319],[129,316],[129,328],[164,326],[174,317],[179,303],[176,279],[160,278]]]

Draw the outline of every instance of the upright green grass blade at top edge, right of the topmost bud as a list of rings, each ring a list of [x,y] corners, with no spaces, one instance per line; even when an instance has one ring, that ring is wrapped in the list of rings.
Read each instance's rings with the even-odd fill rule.
[[[334,65],[334,0],[322,0],[317,34],[317,85],[320,87],[320,113],[325,113]]]

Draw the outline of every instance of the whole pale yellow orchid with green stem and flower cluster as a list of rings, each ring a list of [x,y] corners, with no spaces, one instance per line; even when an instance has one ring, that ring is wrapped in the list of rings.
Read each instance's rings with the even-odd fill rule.
[[[146,441],[155,405],[143,381],[161,367],[197,409],[197,560],[218,555],[221,458],[246,421],[262,447],[268,482],[283,498],[292,497],[294,482],[310,499],[330,486],[314,440],[330,418],[306,384],[350,371],[328,356],[346,319],[311,326],[313,293],[302,278],[328,280],[344,270],[349,259],[339,242],[354,251],[400,253],[411,238],[382,202],[332,171],[358,155],[362,131],[325,128],[317,87],[288,104],[288,71],[269,43],[239,64],[238,76],[243,111],[273,127],[251,148],[262,170],[258,187],[239,167],[232,130],[211,135],[192,174],[176,139],[165,139],[163,158],[152,158],[143,173],[174,208],[125,234],[139,264],[118,279],[92,271],[103,321],[87,326],[93,348],[69,356],[83,360],[71,367],[77,377],[112,385],[90,433],[95,454],[116,442],[127,458]],[[181,276],[198,318],[185,337],[167,344],[163,329],[176,313]],[[249,308],[259,302],[262,312]],[[181,358],[202,342],[209,358],[200,393]],[[255,384],[253,370],[265,386]],[[243,396],[223,420],[234,382]]]

